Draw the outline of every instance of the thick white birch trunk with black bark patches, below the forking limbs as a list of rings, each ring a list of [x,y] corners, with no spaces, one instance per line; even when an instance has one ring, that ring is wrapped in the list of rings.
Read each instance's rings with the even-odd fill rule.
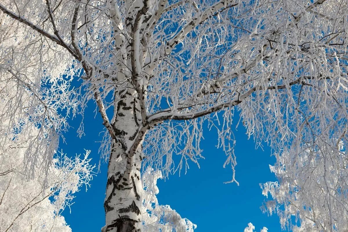
[[[116,101],[117,114],[111,123],[118,142],[113,140],[111,147],[103,232],[141,231],[141,146],[132,157],[128,157],[127,152],[141,123],[139,104],[134,95],[128,90]]]

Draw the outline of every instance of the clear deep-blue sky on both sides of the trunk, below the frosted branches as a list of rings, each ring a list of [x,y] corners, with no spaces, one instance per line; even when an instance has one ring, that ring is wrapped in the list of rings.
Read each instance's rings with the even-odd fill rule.
[[[94,118],[94,110],[93,102],[90,102],[85,114],[86,136],[81,139],[77,137],[76,130],[81,119],[76,118],[70,121],[73,128],[65,134],[68,144],[61,143],[60,148],[69,155],[84,153],[84,149],[92,150],[90,157],[98,164],[99,143],[95,141],[101,140],[98,133],[103,125],[100,117]],[[253,140],[247,140],[245,128],[239,126],[237,129],[235,153],[239,186],[235,183],[223,184],[230,180],[232,171],[229,167],[222,167],[225,154],[216,148],[216,134],[206,130],[202,143],[205,159],[200,160],[200,169],[192,163],[186,175],[179,177],[175,174],[166,181],[159,180],[158,201],[162,205],[170,205],[182,217],[197,224],[196,232],[243,232],[249,222],[254,224],[255,231],[266,226],[269,232],[279,232],[281,229],[277,215],[267,216],[260,210],[266,197],[261,194],[259,183],[275,181],[269,170],[269,164],[275,162],[275,157],[270,156],[267,145],[264,151],[255,150]],[[63,212],[72,232],[99,232],[104,226],[106,168],[107,164],[103,163],[101,173],[94,177],[87,192],[81,189],[75,194],[71,214],[69,208]],[[215,171],[214,175],[212,170]]]

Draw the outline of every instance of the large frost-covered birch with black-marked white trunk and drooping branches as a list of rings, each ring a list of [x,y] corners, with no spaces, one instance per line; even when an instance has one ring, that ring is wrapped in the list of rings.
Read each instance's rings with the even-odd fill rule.
[[[327,167],[325,179],[346,181],[346,0],[2,0],[0,10],[2,76],[46,78],[61,90],[64,78],[79,78],[79,112],[96,103],[108,160],[103,232],[142,231],[141,167],[167,177],[199,165],[205,125],[232,168],[227,182],[237,182],[235,109],[256,144],[282,154],[280,165],[325,144],[316,165]],[[73,100],[52,104],[64,101]],[[332,210],[346,186],[326,183],[316,200],[330,210],[311,210],[330,218],[325,230],[340,231],[345,218]]]

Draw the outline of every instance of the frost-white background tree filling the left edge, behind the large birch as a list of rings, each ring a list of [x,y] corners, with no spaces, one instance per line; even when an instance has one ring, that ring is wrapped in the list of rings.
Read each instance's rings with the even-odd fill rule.
[[[4,20],[1,15],[0,21]],[[21,38],[7,35],[9,39],[0,40],[1,46],[12,42],[14,47],[23,45]],[[35,70],[35,64],[26,56],[30,50],[25,46],[35,45],[24,43],[18,66]],[[6,54],[6,50],[0,53]],[[54,151],[65,122],[63,114],[57,111],[73,105],[73,101],[57,101],[70,98],[71,92],[64,82],[56,86],[59,88],[50,83],[50,88],[41,89],[40,85],[47,84],[42,76],[1,71],[0,231],[69,232],[62,210],[71,204],[74,192],[82,185],[87,187],[94,168],[89,164],[89,151],[84,157],[75,158]],[[59,93],[59,89],[63,91]]]

